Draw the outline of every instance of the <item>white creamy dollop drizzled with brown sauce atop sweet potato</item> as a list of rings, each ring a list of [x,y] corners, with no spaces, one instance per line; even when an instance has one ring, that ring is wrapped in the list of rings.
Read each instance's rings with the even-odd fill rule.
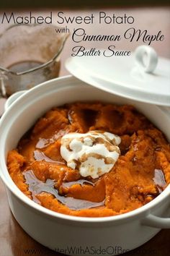
[[[61,156],[67,166],[93,179],[108,173],[120,156],[121,139],[109,132],[72,132],[61,138]]]

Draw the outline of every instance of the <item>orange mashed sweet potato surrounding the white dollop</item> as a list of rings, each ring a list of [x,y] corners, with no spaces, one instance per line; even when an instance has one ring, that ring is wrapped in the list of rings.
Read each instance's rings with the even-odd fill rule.
[[[109,173],[92,179],[68,168],[60,153],[68,132],[112,132],[121,155]],[[7,157],[19,189],[45,208],[71,216],[127,213],[157,197],[170,182],[170,145],[133,106],[72,103],[40,118]]]

